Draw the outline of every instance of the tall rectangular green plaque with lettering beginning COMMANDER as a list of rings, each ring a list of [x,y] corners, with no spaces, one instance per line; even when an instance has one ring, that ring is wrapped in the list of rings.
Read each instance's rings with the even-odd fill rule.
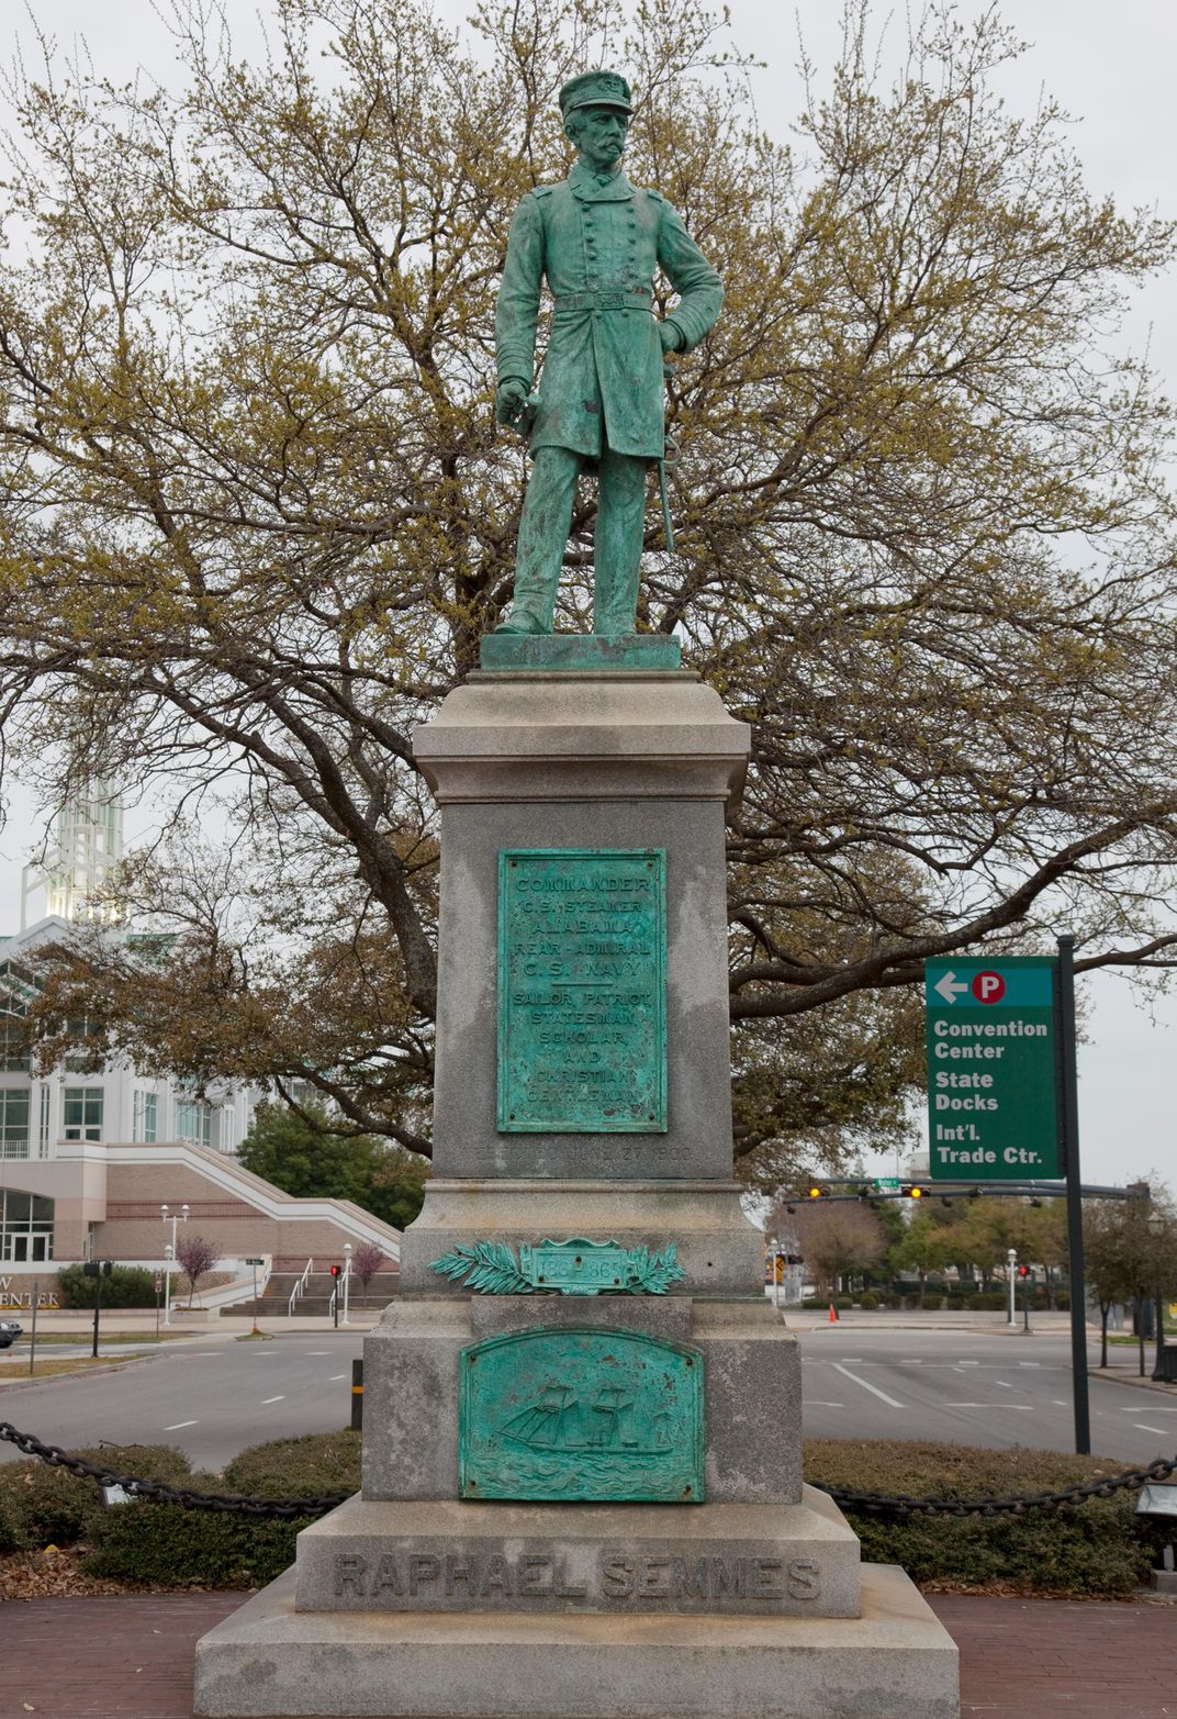
[[[498,1128],[665,1133],[665,849],[500,853]]]

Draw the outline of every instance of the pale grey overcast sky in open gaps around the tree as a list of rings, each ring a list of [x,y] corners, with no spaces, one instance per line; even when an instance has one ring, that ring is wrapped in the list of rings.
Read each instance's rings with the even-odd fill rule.
[[[766,62],[754,74],[761,124],[785,139],[801,107],[797,33],[820,74],[832,65],[840,43],[839,0],[729,0],[739,46]],[[69,50],[86,36],[95,67],[120,81],[136,67],[170,83],[172,43],[149,0],[105,0],[98,15],[93,0],[29,0],[40,26]],[[443,0],[436,10],[462,19],[469,0]],[[912,0],[911,10],[918,10]],[[962,17],[988,5],[964,0]],[[1172,0],[1009,0],[1002,15],[1031,43],[1003,81],[1014,112],[1029,113],[1046,91],[1072,115],[1070,141],[1081,156],[1088,184],[1112,194],[1124,208],[1150,206],[1177,213],[1174,165],[1177,162],[1177,103],[1172,81],[1177,65],[1177,5]],[[242,52],[259,40],[256,9],[230,0],[234,29]],[[17,34],[31,45],[27,17]],[[906,7],[876,3],[873,15],[887,19],[893,60],[906,40]],[[620,67],[624,70],[624,67]],[[820,79],[818,79],[820,81]],[[1143,351],[1150,344],[1153,366],[1167,390],[1177,394],[1177,318],[1174,278],[1143,289],[1132,306],[1124,344]],[[12,822],[0,832],[0,930],[19,923],[21,866],[38,839],[34,808],[17,794]],[[1064,930],[1065,927],[1058,927]],[[1177,1004],[1158,1009],[1156,1025],[1132,1002],[1131,987],[1100,975],[1089,987],[1091,1042],[1081,1049],[1084,1179],[1124,1183],[1158,1169],[1177,1181],[1172,1159],[1172,1088],[1168,1064],[1177,1049]],[[878,1171],[893,1164],[878,1160]]]

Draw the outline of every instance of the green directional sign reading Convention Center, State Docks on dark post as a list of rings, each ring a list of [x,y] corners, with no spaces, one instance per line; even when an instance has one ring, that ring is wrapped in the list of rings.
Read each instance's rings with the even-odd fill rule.
[[[1060,1176],[1055,959],[928,961],[933,1181]]]

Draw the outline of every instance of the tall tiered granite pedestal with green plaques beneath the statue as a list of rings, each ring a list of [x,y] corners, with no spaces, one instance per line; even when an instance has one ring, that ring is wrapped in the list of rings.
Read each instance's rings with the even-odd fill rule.
[[[485,662],[416,736],[442,806],[436,1174],[404,1236],[404,1293],[364,1344],[363,1492],[199,1643],[196,1714],[957,1719],[952,1642],[904,1573],[863,1566],[840,1511],[802,1485],[797,1346],[765,1305],[763,1238],[732,1181],[723,820],[747,727],[667,639],[502,638]],[[529,887],[553,897],[588,889],[577,865],[620,896],[624,866],[649,856],[665,899],[643,923],[665,927],[665,947],[620,935],[608,906],[577,921],[524,904],[533,940],[503,930],[514,854],[552,861]],[[656,973],[629,968],[637,1012],[651,973],[665,992],[653,1037],[643,1016],[634,1080],[653,1069],[665,1104],[610,1123],[593,1081],[617,1083],[637,1040],[615,978],[637,956],[656,956]],[[577,983],[598,1000],[577,1002]],[[502,1102],[514,1006],[529,1011],[555,1114],[567,1105],[560,1126],[545,1112],[515,1128]],[[553,1294],[526,1279],[534,1250],[574,1238],[672,1260],[668,1293]],[[510,1293],[471,1293],[486,1246],[510,1262]],[[483,1497],[471,1380],[488,1375],[473,1368],[521,1344],[557,1356],[536,1375],[540,1403],[481,1434],[526,1446],[531,1466],[507,1465],[507,1494]],[[605,1353],[625,1389],[576,1408],[576,1346]],[[686,1444],[663,1437],[665,1458],[651,1423],[619,1430],[641,1399],[622,1360],[646,1349],[677,1358],[694,1415],[674,1423],[679,1439],[694,1427]],[[581,1430],[562,1444],[565,1410]],[[674,1502],[622,1490],[625,1461],[655,1468],[687,1447],[698,1470]],[[534,1475],[557,1490],[528,1490]]]

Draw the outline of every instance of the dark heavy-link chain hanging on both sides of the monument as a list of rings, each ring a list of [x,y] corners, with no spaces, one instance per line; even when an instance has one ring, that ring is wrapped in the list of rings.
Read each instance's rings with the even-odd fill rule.
[[[52,1468],[65,1468],[70,1475],[95,1480],[100,1487],[122,1487],[136,1497],[156,1499],[162,1504],[182,1504],[184,1509],[213,1509],[230,1516],[325,1516],[351,1494],[330,1492],[318,1499],[239,1499],[222,1492],[192,1492],[189,1487],[168,1487],[162,1480],[141,1480],[136,1475],[117,1475],[113,1470],[100,1468],[81,1456],[70,1456],[58,1444],[43,1444],[31,1432],[17,1428],[0,1420],[0,1439],[15,1444],[26,1456],[36,1456]],[[1009,1499],[928,1499],[914,1497],[909,1492],[854,1492],[849,1487],[830,1487],[814,1480],[818,1492],[828,1494],[835,1504],[859,1511],[868,1516],[1024,1516],[1031,1509],[1062,1509],[1067,1504],[1082,1504],[1086,1499],[1110,1499],[1117,1492],[1139,1492],[1153,1480],[1167,1480],[1177,1473],[1177,1458],[1165,1461],[1158,1458],[1148,1468],[1127,1468],[1122,1475],[1107,1480],[1088,1480],[1079,1487],[1065,1487],[1060,1492],[1026,1492]]]

